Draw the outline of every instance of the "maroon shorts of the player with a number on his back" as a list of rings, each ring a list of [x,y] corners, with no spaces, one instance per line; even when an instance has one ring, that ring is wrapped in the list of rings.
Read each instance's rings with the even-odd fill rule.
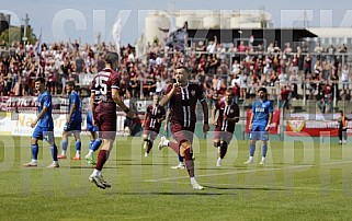
[[[99,128],[99,137],[103,139],[115,139],[116,137],[116,113],[93,114]]]

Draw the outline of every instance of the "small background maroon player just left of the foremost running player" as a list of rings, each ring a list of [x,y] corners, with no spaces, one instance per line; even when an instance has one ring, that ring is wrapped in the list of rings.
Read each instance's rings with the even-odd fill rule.
[[[159,95],[154,95],[152,102],[154,104],[147,107],[145,121],[141,125],[144,127],[143,139],[146,158],[149,155],[152,142],[160,131],[161,121],[166,119],[166,111],[159,105]]]

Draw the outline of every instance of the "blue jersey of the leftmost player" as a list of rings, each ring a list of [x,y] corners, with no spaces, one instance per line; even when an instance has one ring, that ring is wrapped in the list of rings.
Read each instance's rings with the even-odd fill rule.
[[[37,100],[38,113],[43,111],[44,107],[47,107],[46,113],[39,119],[37,126],[45,127],[45,128],[54,128],[54,120],[52,116],[53,112],[53,103],[52,103],[52,95],[49,92],[45,91],[39,94]]]

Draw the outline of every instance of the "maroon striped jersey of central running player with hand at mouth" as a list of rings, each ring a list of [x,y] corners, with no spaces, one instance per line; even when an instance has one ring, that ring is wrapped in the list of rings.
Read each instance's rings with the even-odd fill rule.
[[[164,91],[164,95],[172,90],[169,84]],[[205,101],[203,88],[198,84],[189,83],[184,88],[177,89],[170,100],[171,124],[181,125],[182,128],[191,128],[195,124],[195,106],[197,101]]]

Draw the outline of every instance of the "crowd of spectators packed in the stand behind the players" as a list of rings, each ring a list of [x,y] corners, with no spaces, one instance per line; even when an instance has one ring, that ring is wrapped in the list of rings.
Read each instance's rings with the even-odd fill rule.
[[[80,39],[42,44],[39,48],[37,44],[14,43],[0,51],[0,95],[31,95],[33,80],[37,77],[47,79],[53,95],[65,95],[68,80],[87,88],[79,82],[79,75],[100,71],[109,50],[114,51],[115,46],[81,44]],[[118,72],[121,88],[127,97],[148,98],[155,92],[161,93],[172,81],[173,67],[182,63],[190,69],[192,81],[204,85],[212,102],[228,86],[232,88],[236,101],[254,94],[259,86],[268,86],[270,96],[287,101],[300,98],[300,88],[307,91],[308,98],[320,101],[339,92],[340,83],[343,85],[341,94],[350,94],[351,70],[347,53],[345,45],[323,48],[318,43],[309,50],[305,42],[294,47],[286,43],[284,48],[270,43],[265,48],[261,44],[254,46],[250,40],[224,44],[215,36],[209,42],[192,42],[185,53],[173,51],[158,42],[147,44],[141,58],[137,58],[135,48],[127,45],[122,47]],[[327,85],[331,90],[323,90]]]

